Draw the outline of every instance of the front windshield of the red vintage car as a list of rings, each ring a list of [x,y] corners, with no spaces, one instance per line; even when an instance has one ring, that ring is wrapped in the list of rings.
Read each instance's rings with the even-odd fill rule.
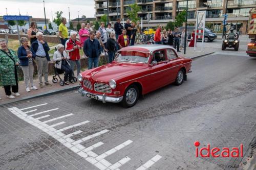
[[[118,53],[115,61],[147,63],[148,56],[148,53],[142,53],[137,51],[121,51]]]

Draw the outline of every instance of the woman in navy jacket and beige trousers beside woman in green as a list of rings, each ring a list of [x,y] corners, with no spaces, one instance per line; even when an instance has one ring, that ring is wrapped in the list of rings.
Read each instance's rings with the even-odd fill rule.
[[[20,66],[22,66],[24,81],[26,85],[26,91],[30,92],[29,82],[30,82],[31,89],[37,90],[37,87],[34,86],[34,83],[33,83],[33,75],[34,75],[33,58],[35,58],[35,55],[32,54],[32,50],[29,46],[28,38],[26,37],[20,38],[20,43],[22,43],[22,46],[18,48],[19,63],[20,63]]]

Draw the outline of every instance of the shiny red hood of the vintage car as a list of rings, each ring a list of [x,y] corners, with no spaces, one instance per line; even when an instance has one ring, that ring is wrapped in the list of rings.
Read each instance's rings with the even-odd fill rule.
[[[138,71],[144,67],[146,67],[146,64],[112,62],[94,69],[91,72],[91,78],[94,81],[105,83],[111,79],[117,81],[119,78],[134,74],[134,71]]]

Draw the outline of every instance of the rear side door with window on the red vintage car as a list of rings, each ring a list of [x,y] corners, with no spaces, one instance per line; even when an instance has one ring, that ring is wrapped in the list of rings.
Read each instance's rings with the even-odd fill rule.
[[[181,60],[172,48],[166,49],[169,83],[173,83],[180,69]]]

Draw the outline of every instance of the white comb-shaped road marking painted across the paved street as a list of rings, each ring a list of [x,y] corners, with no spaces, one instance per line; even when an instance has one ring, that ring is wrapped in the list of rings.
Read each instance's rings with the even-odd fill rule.
[[[88,120],[86,120],[84,122],[81,122],[81,123],[78,123],[78,124],[75,124],[75,125],[71,125],[71,126],[59,129],[59,130],[55,129],[54,127],[56,127],[58,125],[65,124],[65,122],[59,122],[59,123],[56,123],[56,124],[53,124],[53,125],[48,125],[47,124],[47,123],[52,122],[54,120],[64,118],[64,117],[67,117],[67,116],[71,116],[71,115],[73,115],[73,113],[63,115],[63,116],[59,116],[59,117],[41,122],[39,119],[49,117],[50,115],[44,115],[44,116],[37,117],[37,118],[34,118],[33,116],[41,114],[41,113],[46,113],[46,112],[49,112],[49,111],[57,110],[58,108],[47,110],[47,111],[42,111],[42,112],[35,113],[35,114],[32,114],[32,115],[28,115],[27,113],[32,112],[32,111],[36,111],[36,109],[31,110],[31,111],[27,111],[27,112],[22,111],[22,110],[25,110],[25,109],[30,109],[30,108],[34,108],[34,107],[38,107],[38,106],[43,106],[43,105],[47,105],[47,103],[46,104],[41,104],[41,105],[36,105],[36,106],[31,106],[31,107],[23,108],[23,109],[18,109],[16,107],[13,107],[13,108],[9,108],[9,111],[12,112],[17,117],[19,117],[20,119],[25,120],[27,123],[37,127],[38,129],[40,129],[44,132],[46,132],[47,134],[49,134],[50,136],[52,136],[53,138],[58,140],[60,143],[65,145],[67,148],[69,148],[71,151],[78,154],[79,156],[81,156],[82,158],[84,158],[88,162],[92,163],[96,167],[98,167],[100,170],[105,170],[105,169],[106,170],[112,170],[112,169],[120,170],[119,169],[120,166],[122,166],[123,164],[125,164],[126,162],[131,160],[130,157],[125,156],[124,158],[122,158],[118,162],[115,162],[114,164],[112,164],[109,161],[105,160],[104,158],[114,154],[115,152],[117,152],[117,151],[121,150],[122,148],[126,147],[127,145],[131,144],[133,142],[132,140],[126,140],[125,142],[123,142],[123,143],[117,145],[116,147],[102,153],[101,155],[97,155],[96,153],[93,152],[93,150],[95,148],[100,147],[101,145],[103,145],[104,144],[103,142],[100,141],[98,143],[95,143],[95,144],[91,145],[88,148],[83,147],[83,145],[80,144],[80,143],[82,143],[86,140],[92,139],[92,138],[97,137],[99,135],[102,135],[106,132],[109,132],[109,130],[107,130],[107,129],[104,129],[100,132],[89,135],[87,137],[83,137],[83,138],[81,138],[77,141],[71,139],[70,137],[72,137],[76,134],[82,133],[82,131],[78,130],[78,131],[72,132],[70,134],[62,133],[62,131],[65,131],[67,129],[71,129],[73,127],[77,127],[77,126],[80,126],[80,125],[83,125],[83,124],[87,124],[87,123],[89,123]],[[161,158],[162,157],[160,155],[156,155],[151,160],[148,160],[146,163],[141,165],[136,170],[147,169],[148,167],[152,166],[154,163],[156,163]]]

